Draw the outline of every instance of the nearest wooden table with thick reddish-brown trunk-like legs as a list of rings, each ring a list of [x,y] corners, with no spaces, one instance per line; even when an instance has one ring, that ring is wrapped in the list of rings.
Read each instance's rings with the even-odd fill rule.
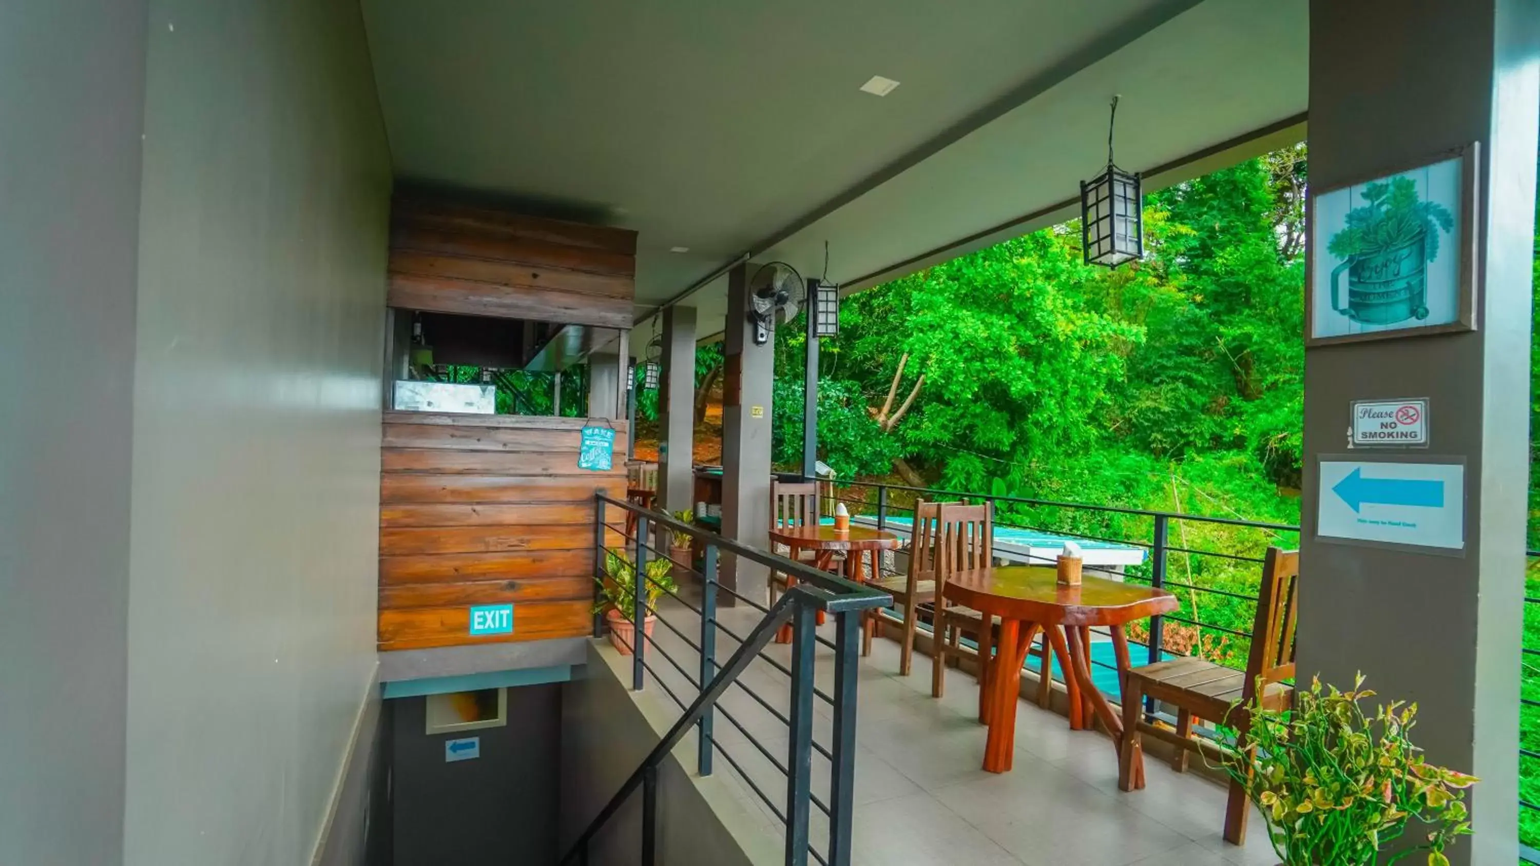
[[[1129,669],[1129,638],[1123,626],[1155,614],[1177,609],[1177,597],[1164,589],[1086,577],[1081,586],[1060,586],[1053,566],[996,566],[956,572],[947,578],[946,600],[999,617],[998,654],[979,658],[986,691],[989,744],[984,769],[1006,772],[1015,751],[1016,698],[1021,666],[1038,629],[1064,668],[1069,692],[1070,728],[1087,728],[1092,714],[1112,734],[1113,754],[1123,748],[1123,720],[1090,678],[1090,629],[1103,626],[1112,634],[1118,655],[1118,683]],[[987,623],[989,620],[986,620]],[[1047,649],[1044,648],[1044,652]],[[1067,661],[1066,661],[1067,660]],[[1143,781],[1144,766],[1135,768]]]

